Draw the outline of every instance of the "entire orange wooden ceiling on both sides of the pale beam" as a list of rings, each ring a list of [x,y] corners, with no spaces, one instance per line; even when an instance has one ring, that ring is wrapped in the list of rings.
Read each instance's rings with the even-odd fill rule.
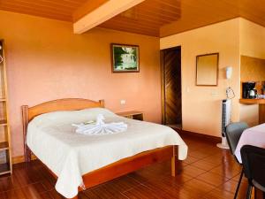
[[[0,0],[0,10],[73,22],[106,1]],[[236,17],[265,27],[264,13],[264,0],[146,0],[99,27],[163,37]]]

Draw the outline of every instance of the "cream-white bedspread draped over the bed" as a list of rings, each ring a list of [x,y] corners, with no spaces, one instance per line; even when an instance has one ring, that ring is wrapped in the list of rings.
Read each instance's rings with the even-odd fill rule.
[[[105,122],[124,121],[124,133],[107,135],[76,134],[72,123],[95,120],[101,113]],[[66,198],[78,194],[82,175],[140,152],[179,145],[178,158],[186,158],[187,146],[170,127],[119,117],[102,108],[56,111],[34,118],[27,128],[27,146],[57,174],[57,192]]]

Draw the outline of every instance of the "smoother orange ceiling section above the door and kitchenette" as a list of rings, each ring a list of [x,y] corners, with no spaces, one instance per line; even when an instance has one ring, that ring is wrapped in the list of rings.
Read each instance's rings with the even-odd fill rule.
[[[160,28],[160,36],[242,17],[265,27],[264,0],[182,0],[181,18]]]

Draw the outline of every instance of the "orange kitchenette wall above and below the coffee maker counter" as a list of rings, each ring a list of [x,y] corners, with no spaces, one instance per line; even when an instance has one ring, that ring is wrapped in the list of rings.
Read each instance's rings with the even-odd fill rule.
[[[253,57],[247,60],[241,59],[241,80],[262,80],[265,69],[262,70],[262,64],[257,62],[259,59],[265,59],[265,27],[261,27],[249,20],[240,19],[239,34],[240,34],[240,55]],[[255,61],[254,61],[255,60]],[[247,61],[247,63],[246,63]],[[257,63],[257,64],[255,64]],[[246,64],[248,66],[246,66]],[[250,73],[244,73],[246,70],[251,69]],[[264,65],[265,67],[265,65]],[[258,70],[259,72],[257,72]],[[250,77],[250,76],[253,76]],[[265,80],[265,76],[263,76]],[[257,104],[240,104],[240,120],[246,121],[249,126],[259,124],[259,107]]]

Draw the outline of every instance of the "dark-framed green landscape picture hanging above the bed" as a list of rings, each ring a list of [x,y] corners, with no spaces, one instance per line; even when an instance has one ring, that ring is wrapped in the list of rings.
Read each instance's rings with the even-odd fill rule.
[[[111,43],[112,72],[139,72],[139,46]]]

